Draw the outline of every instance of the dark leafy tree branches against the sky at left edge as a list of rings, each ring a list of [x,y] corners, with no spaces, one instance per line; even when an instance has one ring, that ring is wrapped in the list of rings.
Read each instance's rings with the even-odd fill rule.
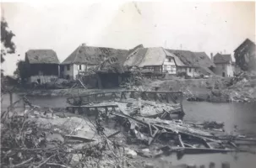
[[[1,63],[3,63],[3,56],[8,54],[14,54],[16,45],[12,41],[15,34],[12,30],[8,29],[8,23],[4,18],[1,19]]]

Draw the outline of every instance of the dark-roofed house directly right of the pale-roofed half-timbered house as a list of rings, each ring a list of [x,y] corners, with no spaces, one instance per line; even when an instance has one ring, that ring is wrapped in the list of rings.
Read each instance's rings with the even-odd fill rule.
[[[169,50],[174,55],[182,60],[185,66],[179,67],[178,71],[184,71],[188,76],[192,77],[208,77],[214,76],[213,69],[215,64],[210,60],[210,57],[205,52],[193,52],[190,50]]]

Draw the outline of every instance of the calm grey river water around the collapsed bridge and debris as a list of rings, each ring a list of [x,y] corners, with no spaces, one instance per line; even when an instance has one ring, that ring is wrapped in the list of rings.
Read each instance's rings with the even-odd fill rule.
[[[14,95],[14,101],[19,99]],[[41,107],[63,108],[67,106],[66,97],[28,97],[30,101]],[[8,95],[4,96],[2,110],[8,107]],[[20,105],[20,107],[22,107]],[[186,113],[183,118],[187,122],[217,121],[225,123],[226,132],[234,130],[240,134],[256,135],[256,103],[212,103],[212,102],[188,102],[183,101],[183,109]],[[256,165],[256,155],[251,154],[210,154],[210,155],[184,155],[181,160],[176,156],[168,156],[166,160],[172,161],[174,165],[188,163],[205,165],[215,162],[215,167],[221,167],[221,162],[229,162],[231,168],[254,168]]]

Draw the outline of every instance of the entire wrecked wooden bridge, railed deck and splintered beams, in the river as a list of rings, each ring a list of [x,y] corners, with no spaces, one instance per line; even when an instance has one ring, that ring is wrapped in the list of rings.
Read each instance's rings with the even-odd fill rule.
[[[172,97],[170,97],[170,94]],[[167,96],[166,96],[167,95]],[[144,102],[141,101],[144,100]],[[142,115],[141,113],[124,112],[122,105],[132,107],[133,102],[139,102],[141,107],[143,104],[148,107],[155,108],[155,103],[177,105],[180,108],[166,110],[161,108],[160,113],[153,115]],[[149,102],[145,102],[149,101]],[[83,114],[91,109],[95,113],[95,121],[99,114],[104,114],[108,118],[114,119],[122,127],[128,131],[128,137],[133,136],[136,141],[150,145],[166,144],[169,146],[169,152],[177,152],[184,154],[202,154],[202,153],[226,153],[226,152],[242,152],[237,135],[225,134],[221,130],[214,128],[204,128],[204,124],[182,123],[182,121],[174,121],[171,118],[166,120],[166,116],[171,114],[180,114],[182,110],[182,92],[142,92],[142,91],[115,91],[115,92],[98,92],[79,97],[68,97],[70,106],[67,108],[80,109]],[[161,107],[161,106],[160,106]],[[145,110],[147,110],[146,108]],[[104,113],[105,110],[105,113]],[[183,112],[182,112],[183,113]],[[106,119],[106,118],[103,118]],[[118,130],[111,137],[122,133]],[[247,142],[247,141],[246,141]],[[168,143],[171,143],[168,144]],[[250,139],[250,144],[256,143],[256,139]]]

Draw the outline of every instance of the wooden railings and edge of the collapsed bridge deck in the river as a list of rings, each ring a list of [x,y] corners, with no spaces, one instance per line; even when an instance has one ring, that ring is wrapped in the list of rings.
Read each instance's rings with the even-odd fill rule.
[[[113,91],[113,92],[97,92],[97,93],[92,93],[92,94],[87,94],[87,95],[82,95],[78,97],[68,97],[67,102],[70,104],[67,108],[72,109],[72,112],[76,109],[79,109],[79,111],[88,111],[90,107],[86,106],[89,105],[90,103],[99,103],[99,102],[125,102],[130,99],[139,101],[139,98],[141,98],[144,101],[150,101],[150,102],[161,102],[161,103],[166,103],[166,104],[172,104],[172,105],[177,105],[176,109],[173,109],[172,111],[163,111],[162,112],[162,118],[166,117],[168,114],[177,114],[181,118],[184,115],[183,108],[182,108],[182,92],[155,92],[155,91],[133,91],[133,90],[124,90],[124,91]],[[94,105],[95,110],[97,108],[102,108],[102,107],[96,107],[97,105]],[[154,105],[153,105],[154,106]],[[108,111],[108,108],[110,107],[105,107],[106,113]],[[113,108],[115,110],[115,108]],[[151,117],[157,117],[157,115],[152,115]],[[148,116],[150,117],[150,116]]]

